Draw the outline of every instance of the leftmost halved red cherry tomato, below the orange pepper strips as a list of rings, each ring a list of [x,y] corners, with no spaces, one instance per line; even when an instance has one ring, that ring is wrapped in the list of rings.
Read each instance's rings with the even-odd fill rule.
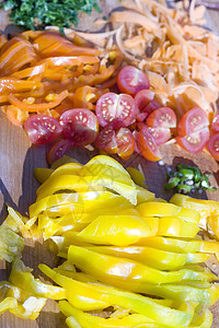
[[[55,140],[62,131],[58,120],[51,116],[36,114],[27,118],[24,129],[33,144],[45,144]]]

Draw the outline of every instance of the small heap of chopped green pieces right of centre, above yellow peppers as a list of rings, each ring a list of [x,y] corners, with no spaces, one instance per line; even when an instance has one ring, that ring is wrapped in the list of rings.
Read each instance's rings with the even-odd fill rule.
[[[209,183],[211,175],[203,174],[198,167],[177,164],[174,172],[168,172],[168,183],[164,185],[165,189],[176,188],[177,192],[188,194],[195,190],[216,191]]]

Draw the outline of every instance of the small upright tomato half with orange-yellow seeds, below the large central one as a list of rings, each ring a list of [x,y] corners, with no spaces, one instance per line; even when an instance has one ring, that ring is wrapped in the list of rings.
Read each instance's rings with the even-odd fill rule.
[[[118,155],[123,160],[128,160],[135,150],[135,140],[131,131],[127,128],[120,128],[116,132],[116,142],[118,148]]]

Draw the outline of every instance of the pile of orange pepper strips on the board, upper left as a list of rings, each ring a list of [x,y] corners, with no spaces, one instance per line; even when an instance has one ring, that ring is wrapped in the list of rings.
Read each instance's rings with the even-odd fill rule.
[[[73,107],[94,109],[108,91],[102,83],[122,60],[116,48],[103,54],[79,37],[71,42],[55,32],[26,31],[11,39],[0,34],[1,109],[16,126],[33,114],[58,118]]]

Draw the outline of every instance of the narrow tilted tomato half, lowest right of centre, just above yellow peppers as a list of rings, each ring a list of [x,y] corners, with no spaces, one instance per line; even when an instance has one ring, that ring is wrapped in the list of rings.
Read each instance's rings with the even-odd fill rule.
[[[161,160],[161,153],[154,142],[149,129],[145,126],[137,134],[137,147],[141,155],[148,161],[157,162]]]

